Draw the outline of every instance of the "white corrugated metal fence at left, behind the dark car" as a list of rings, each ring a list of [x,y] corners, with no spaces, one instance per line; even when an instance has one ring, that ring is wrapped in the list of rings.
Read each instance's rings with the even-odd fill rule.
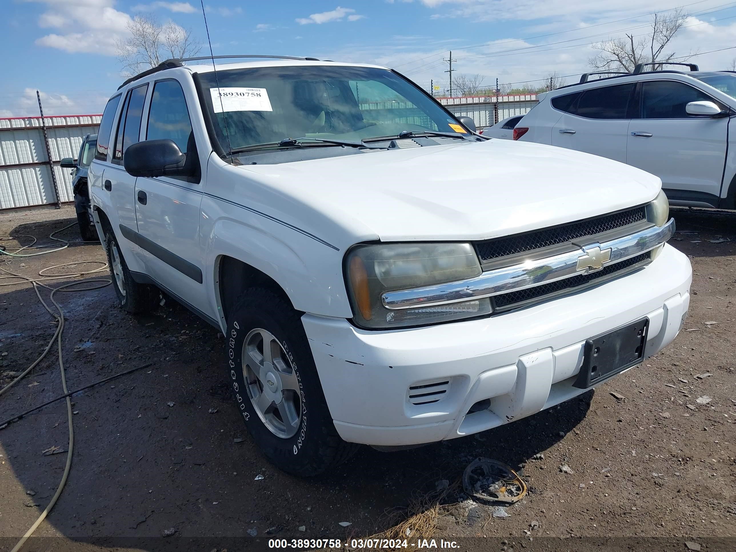
[[[101,115],[45,117],[52,163],[43,144],[40,117],[0,118],[0,209],[57,202],[54,171],[61,202],[74,201],[71,169],[62,158],[77,158],[85,135],[94,134]]]

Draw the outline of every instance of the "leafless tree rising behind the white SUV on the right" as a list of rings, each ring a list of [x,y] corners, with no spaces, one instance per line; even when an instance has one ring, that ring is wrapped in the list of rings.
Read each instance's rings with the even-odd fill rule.
[[[646,35],[626,35],[626,38],[611,38],[593,44],[598,54],[588,60],[592,68],[612,71],[634,71],[637,63],[668,62],[673,59],[687,60],[695,53],[679,58],[675,52],[665,53],[670,40],[682,29],[689,15],[682,8],[670,10],[666,15],[655,13],[652,15],[650,32]],[[662,66],[654,66],[655,69]]]

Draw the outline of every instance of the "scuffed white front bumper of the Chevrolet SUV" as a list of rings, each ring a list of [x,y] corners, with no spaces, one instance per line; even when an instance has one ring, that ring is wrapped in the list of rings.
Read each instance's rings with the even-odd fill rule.
[[[643,316],[645,355],[656,354],[682,326],[691,279],[687,257],[665,245],[637,272],[484,319],[391,331],[311,314],[302,322],[340,436],[418,445],[495,428],[585,392],[573,387],[585,340]],[[467,414],[485,399],[489,408]]]

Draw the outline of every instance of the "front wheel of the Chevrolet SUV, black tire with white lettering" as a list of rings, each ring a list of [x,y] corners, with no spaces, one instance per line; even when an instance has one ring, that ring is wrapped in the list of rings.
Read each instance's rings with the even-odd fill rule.
[[[270,369],[261,369],[256,357],[265,361],[263,343],[269,336],[275,339],[270,347],[273,360]],[[353,456],[360,445],[344,442],[337,434],[300,315],[288,302],[266,289],[247,289],[230,311],[225,340],[227,380],[236,406],[272,464],[286,473],[308,477]],[[261,379],[256,370],[261,371]],[[269,397],[276,397],[269,408],[256,407]]]

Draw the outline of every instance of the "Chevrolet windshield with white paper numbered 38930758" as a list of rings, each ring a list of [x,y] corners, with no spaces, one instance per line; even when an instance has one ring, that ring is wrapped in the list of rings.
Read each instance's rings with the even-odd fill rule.
[[[214,73],[200,77],[226,152],[284,138],[361,141],[404,130],[467,133],[419,88],[386,69],[230,69],[217,71],[219,92]]]

